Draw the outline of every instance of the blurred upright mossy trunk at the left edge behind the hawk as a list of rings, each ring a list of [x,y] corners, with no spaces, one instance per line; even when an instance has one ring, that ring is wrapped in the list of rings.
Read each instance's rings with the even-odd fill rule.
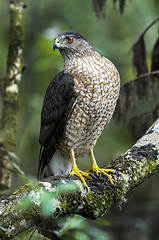
[[[10,190],[12,165],[10,156],[15,152],[18,83],[23,69],[23,0],[10,0],[10,32],[6,77],[0,80],[2,110],[0,119],[0,192]]]

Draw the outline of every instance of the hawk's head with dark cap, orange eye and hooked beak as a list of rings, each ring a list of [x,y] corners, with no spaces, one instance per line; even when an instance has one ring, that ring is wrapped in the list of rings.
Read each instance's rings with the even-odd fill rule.
[[[55,38],[53,49],[58,49],[64,58],[70,58],[73,55],[85,55],[93,50],[84,37],[72,31],[58,34]]]

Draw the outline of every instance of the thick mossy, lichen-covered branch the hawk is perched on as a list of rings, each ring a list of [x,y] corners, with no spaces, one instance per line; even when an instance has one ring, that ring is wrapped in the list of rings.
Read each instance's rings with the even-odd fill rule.
[[[54,177],[26,184],[0,202],[0,238],[11,239],[32,226],[52,229],[60,216],[80,214],[101,217],[114,201],[122,199],[159,169],[159,119],[123,156],[110,164],[114,186],[108,179],[86,179],[88,190],[74,177]]]

